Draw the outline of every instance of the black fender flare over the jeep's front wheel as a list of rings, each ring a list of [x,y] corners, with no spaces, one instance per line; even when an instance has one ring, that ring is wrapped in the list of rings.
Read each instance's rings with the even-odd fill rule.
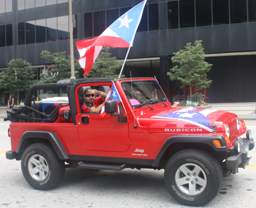
[[[213,143],[213,140],[218,140],[221,144],[221,147],[216,147]],[[201,143],[201,144],[208,144],[210,147],[213,148],[216,152],[222,152],[228,150],[228,145],[226,144],[226,140],[222,135],[214,135],[214,136],[204,136],[204,135],[176,135],[171,136],[164,142],[162,148],[158,152],[154,162],[152,163],[152,167],[158,167],[164,153],[166,152],[167,148],[174,143]]]

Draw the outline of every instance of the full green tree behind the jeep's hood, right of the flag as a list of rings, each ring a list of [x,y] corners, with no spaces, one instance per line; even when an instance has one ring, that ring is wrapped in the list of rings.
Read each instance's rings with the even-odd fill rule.
[[[185,50],[174,53],[172,62],[179,65],[174,66],[170,69],[170,72],[167,72],[172,81],[178,80],[181,82],[180,88],[185,88],[185,86],[189,85],[190,95],[192,95],[192,87],[205,89],[212,82],[207,77],[207,72],[211,69],[212,64],[204,61],[204,48],[201,41],[196,40],[194,46],[191,43],[187,43]]]

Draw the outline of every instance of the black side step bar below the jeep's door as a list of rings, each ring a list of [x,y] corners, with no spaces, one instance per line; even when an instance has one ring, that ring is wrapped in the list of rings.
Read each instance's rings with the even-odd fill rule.
[[[98,170],[116,170],[120,171],[126,168],[126,164],[115,164],[115,163],[90,163],[81,161],[78,163],[80,168],[85,169],[98,169]]]

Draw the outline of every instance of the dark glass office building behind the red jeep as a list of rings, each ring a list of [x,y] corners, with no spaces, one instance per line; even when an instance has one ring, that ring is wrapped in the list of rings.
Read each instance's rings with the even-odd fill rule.
[[[39,79],[46,68],[43,50],[69,54],[69,24],[74,43],[90,39],[139,2],[76,0],[69,22],[68,0],[0,0],[0,70],[7,70],[12,59],[23,59]],[[208,102],[255,102],[255,34],[254,0],[148,0],[123,73],[155,76],[171,102],[185,99],[187,90],[166,73],[175,64],[174,52],[203,40],[205,60],[213,64],[208,73],[213,81],[205,90]],[[111,52],[123,60],[127,48]]]

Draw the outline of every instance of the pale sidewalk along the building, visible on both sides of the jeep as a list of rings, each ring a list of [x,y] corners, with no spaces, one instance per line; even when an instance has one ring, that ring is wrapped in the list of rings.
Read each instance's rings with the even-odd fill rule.
[[[256,103],[255,102],[235,102],[235,103],[209,103],[212,109],[229,111],[238,115],[242,120],[256,120]],[[9,108],[0,107],[0,118],[6,118],[6,111]]]

